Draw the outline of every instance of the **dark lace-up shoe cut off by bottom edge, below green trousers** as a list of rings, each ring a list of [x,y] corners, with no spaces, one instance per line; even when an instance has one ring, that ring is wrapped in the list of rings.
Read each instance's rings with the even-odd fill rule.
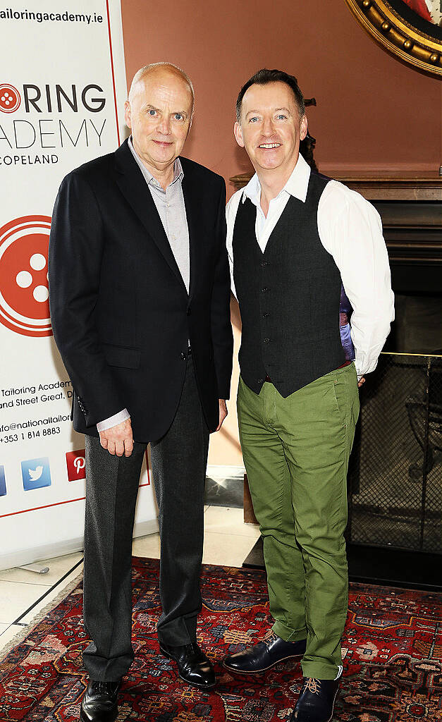
[[[339,682],[304,677],[303,687],[288,722],[331,722]]]

